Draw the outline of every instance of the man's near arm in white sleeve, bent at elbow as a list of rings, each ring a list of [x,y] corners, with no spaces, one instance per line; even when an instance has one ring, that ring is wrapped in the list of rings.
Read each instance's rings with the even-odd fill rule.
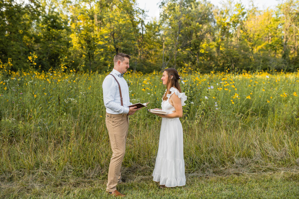
[[[111,75],[110,75],[111,76]],[[123,107],[115,103],[114,97],[116,93],[115,80],[112,78],[105,78],[103,81],[103,99],[105,107],[120,113],[129,113],[129,107]]]

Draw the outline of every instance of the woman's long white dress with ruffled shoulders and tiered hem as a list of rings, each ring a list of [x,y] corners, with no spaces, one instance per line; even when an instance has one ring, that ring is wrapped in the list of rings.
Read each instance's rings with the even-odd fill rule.
[[[171,94],[167,100],[162,101],[162,110],[168,114],[176,109],[169,103],[169,98],[175,93],[182,106],[187,99],[185,93],[180,93],[176,88],[170,88]],[[183,128],[179,118],[162,118],[158,154],[153,171],[153,181],[160,182],[167,187],[184,186],[186,184],[185,162],[183,153]]]

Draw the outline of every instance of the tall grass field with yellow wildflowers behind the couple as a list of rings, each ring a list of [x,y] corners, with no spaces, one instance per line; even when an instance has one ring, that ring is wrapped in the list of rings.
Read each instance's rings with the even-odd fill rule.
[[[103,73],[63,65],[47,72],[9,68],[10,62],[1,63],[1,183],[36,187],[105,180],[112,152],[102,82],[112,68]],[[298,173],[299,70],[202,74],[186,66],[179,73],[188,97],[181,118],[187,175]],[[126,73],[131,102],[161,107],[161,74]],[[161,118],[145,109],[130,116],[125,178],[151,175],[160,125]]]

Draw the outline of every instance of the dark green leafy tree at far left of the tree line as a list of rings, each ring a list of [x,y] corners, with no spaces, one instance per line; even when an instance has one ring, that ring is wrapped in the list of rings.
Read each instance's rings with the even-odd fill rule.
[[[41,14],[37,1],[0,2],[0,59],[11,58],[13,67],[28,67],[27,56],[34,50],[34,23]]]

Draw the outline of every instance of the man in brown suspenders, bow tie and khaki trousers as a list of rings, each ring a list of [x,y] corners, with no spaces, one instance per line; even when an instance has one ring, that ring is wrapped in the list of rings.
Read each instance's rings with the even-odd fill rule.
[[[116,185],[121,183],[121,163],[125,155],[126,138],[129,128],[129,115],[137,111],[137,107],[128,107],[132,103],[129,98],[129,87],[123,73],[129,68],[130,55],[118,53],[114,56],[114,68],[103,81],[103,98],[106,107],[106,127],[112,148],[108,183],[106,191],[110,195],[125,196],[117,191]],[[120,87],[120,89],[119,89]]]

